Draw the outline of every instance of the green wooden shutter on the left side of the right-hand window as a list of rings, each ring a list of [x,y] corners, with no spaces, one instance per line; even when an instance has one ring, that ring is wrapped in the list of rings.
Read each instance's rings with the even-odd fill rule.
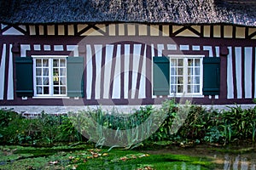
[[[153,92],[154,95],[170,94],[170,61],[167,57],[153,58]]]

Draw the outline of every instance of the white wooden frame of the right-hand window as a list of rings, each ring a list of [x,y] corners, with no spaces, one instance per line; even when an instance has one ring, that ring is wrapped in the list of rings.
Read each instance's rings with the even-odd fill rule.
[[[203,58],[204,55],[168,55],[169,59],[170,59],[170,97],[173,96],[177,96],[177,97],[203,97],[202,94],[202,88],[203,88]],[[183,89],[183,91],[188,90],[188,59],[200,59],[200,89],[199,89],[199,93],[172,93],[172,89],[171,89],[171,69],[172,69],[172,63],[171,63],[171,59],[183,59],[183,88],[185,88],[185,90]],[[184,69],[185,68],[185,69]]]

